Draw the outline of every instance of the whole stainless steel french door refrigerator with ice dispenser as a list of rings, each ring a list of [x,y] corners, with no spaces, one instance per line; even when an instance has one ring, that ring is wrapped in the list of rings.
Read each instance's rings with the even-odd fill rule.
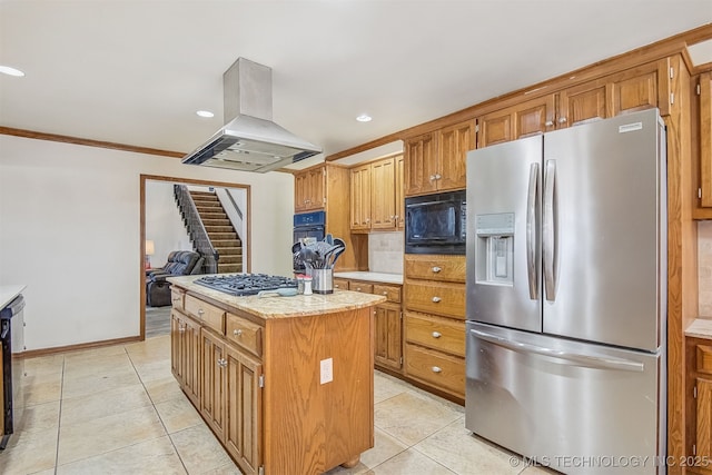
[[[665,472],[656,109],[467,156],[465,426],[564,473]]]

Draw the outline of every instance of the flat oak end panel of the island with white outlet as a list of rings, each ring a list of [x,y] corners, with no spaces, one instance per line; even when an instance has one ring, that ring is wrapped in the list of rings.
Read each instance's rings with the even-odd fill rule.
[[[265,466],[318,474],[357,461],[374,444],[370,309],[271,320],[266,335]]]

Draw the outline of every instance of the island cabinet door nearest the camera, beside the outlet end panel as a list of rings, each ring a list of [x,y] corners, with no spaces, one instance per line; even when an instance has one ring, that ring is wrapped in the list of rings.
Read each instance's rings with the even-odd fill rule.
[[[261,432],[263,390],[259,379],[263,366],[231,345],[225,346],[227,359],[225,446],[238,461],[245,474],[257,474],[263,464]]]

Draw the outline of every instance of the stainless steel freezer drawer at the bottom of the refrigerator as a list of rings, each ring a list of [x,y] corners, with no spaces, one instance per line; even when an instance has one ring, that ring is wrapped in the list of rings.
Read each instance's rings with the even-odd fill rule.
[[[466,333],[469,431],[567,474],[664,472],[662,353],[473,321]]]

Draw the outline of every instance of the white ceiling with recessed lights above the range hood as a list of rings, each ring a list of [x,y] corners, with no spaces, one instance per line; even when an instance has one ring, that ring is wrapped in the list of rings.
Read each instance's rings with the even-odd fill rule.
[[[711,21],[712,0],[0,0],[0,65],[26,72],[0,75],[0,126],[188,152],[244,57],[330,155]]]

